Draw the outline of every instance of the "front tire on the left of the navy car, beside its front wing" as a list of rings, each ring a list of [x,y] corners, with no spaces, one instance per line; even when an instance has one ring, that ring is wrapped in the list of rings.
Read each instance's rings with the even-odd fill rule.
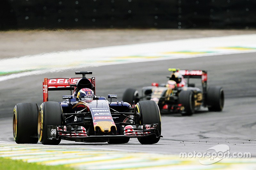
[[[61,125],[62,108],[59,102],[46,101],[41,104],[38,112],[38,138],[42,144],[57,145],[61,139],[48,139],[47,126]]]

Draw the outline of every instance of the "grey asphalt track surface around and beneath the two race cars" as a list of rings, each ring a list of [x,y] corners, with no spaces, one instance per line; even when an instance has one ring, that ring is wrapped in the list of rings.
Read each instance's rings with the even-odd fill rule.
[[[91,67],[81,70],[33,75],[0,82],[0,141],[14,143],[12,110],[16,103],[42,103],[42,81],[45,77],[75,77],[75,71],[92,71],[96,77],[96,94],[117,94],[122,100],[126,88],[139,90],[152,82],[165,83],[167,68],[208,70],[208,85],[221,85],[225,92],[222,112],[197,112],[192,116],[161,115],[163,138],[154,145],[141,145],[137,139],[128,144],[88,144],[64,141],[60,145],[85,148],[179,154],[205,152],[218,144],[227,144],[230,152],[251,152],[256,156],[256,78],[255,53],[207,56]],[[68,92],[67,92],[68,93]],[[61,95],[49,93],[50,100],[61,101]],[[40,145],[38,143],[38,145]]]

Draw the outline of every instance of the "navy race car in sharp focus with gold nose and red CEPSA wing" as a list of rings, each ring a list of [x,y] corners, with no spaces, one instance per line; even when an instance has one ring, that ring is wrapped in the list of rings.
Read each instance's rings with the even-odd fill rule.
[[[76,142],[127,143],[131,137],[141,144],[155,144],[161,136],[160,111],[155,101],[112,102],[117,95],[95,96],[95,78],[44,78],[43,103],[18,103],[13,111],[16,143],[59,144]],[[62,102],[48,101],[49,91],[69,90]]]

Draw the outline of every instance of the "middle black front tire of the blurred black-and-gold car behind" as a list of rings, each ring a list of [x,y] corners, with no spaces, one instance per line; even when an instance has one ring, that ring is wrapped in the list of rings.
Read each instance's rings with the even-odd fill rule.
[[[195,98],[194,92],[190,90],[181,91],[179,94],[179,103],[184,105],[184,112],[182,115],[188,116],[195,113]]]

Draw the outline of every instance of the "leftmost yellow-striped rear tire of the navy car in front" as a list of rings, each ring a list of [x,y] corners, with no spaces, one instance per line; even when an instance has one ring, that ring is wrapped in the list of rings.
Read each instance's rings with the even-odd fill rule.
[[[18,103],[13,109],[12,130],[17,144],[36,144],[38,107],[35,103]]]

